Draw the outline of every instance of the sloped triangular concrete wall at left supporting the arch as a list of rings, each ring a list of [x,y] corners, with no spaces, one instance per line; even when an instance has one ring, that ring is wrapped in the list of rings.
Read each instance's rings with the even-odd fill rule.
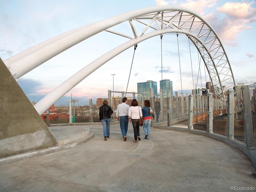
[[[0,158],[57,145],[0,58]]]

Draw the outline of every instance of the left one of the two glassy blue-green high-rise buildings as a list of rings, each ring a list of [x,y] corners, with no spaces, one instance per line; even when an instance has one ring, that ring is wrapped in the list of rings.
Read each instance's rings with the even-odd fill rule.
[[[153,88],[153,95],[157,96],[157,82],[148,80],[147,82],[137,83],[138,101],[142,100],[142,94],[144,94],[144,99],[149,99],[149,90]]]

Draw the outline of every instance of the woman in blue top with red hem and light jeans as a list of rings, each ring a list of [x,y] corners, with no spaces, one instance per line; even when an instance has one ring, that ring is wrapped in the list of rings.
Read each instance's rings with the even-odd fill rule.
[[[145,100],[144,107],[142,107],[143,130],[144,130],[144,134],[145,134],[145,139],[150,139],[149,133],[150,133],[152,116],[153,116],[153,120],[155,120],[155,115],[150,106],[150,101]]]

